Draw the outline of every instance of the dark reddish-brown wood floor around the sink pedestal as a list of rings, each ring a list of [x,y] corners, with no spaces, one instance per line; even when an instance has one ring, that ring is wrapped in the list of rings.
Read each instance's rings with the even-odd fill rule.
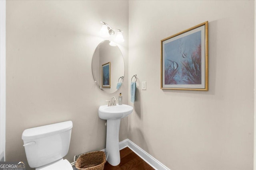
[[[121,162],[118,166],[106,162],[104,170],[154,170],[128,147],[120,150],[120,157]]]

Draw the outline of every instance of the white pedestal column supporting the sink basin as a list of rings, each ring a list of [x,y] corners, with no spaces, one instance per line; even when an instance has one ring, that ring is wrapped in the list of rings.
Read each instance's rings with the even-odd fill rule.
[[[112,166],[120,164],[119,150],[119,128],[121,119],[107,120],[106,152],[108,152],[108,163]]]

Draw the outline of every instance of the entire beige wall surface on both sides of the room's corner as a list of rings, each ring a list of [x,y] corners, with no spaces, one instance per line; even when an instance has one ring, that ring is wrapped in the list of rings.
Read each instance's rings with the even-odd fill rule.
[[[207,20],[209,91],[161,90],[160,40]],[[254,1],[130,1],[129,16],[126,1],[7,1],[6,161],[26,161],[24,129],[66,120],[74,123],[70,162],[104,149],[97,109],[122,92],[135,111],[122,119],[120,141],[129,138],[172,170],[252,169],[254,20]],[[91,72],[100,21],[126,40],[115,94],[101,92]]]

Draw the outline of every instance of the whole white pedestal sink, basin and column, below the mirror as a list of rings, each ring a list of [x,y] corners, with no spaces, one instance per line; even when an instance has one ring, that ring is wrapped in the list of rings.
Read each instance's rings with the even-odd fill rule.
[[[125,104],[116,106],[100,106],[98,113],[100,119],[107,120],[107,140],[106,152],[108,153],[108,163],[112,166],[120,164],[119,151],[119,128],[122,118],[130,115],[133,111],[132,106]]]

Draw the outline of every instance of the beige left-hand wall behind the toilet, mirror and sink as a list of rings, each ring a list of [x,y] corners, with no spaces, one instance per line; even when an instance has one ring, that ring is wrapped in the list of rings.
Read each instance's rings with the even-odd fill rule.
[[[91,71],[94,49],[104,40],[100,21],[122,29],[126,40],[120,46],[125,79],[114,94],[103,93]],[[98,107],[119,92],[128,96],[128,2],[7,1],[6,30],[6,161],[26,161],[24,129],[67,120],[73,121],[70,162],[104,149]],[[120,141],[127,130],[128,118],[122,119]]]

